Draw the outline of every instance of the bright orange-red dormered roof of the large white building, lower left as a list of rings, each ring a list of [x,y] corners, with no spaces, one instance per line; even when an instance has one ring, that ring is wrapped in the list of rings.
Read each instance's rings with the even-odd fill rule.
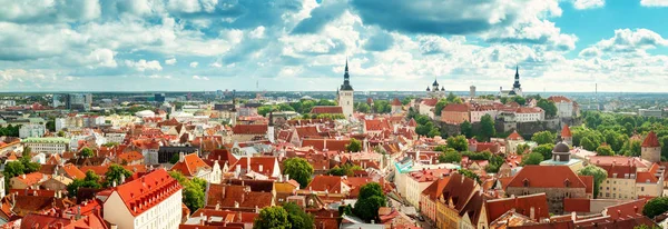
[[[180,189],[178,181],[164,169],[156,169],[114,188],[132,216],[141,215]],[[149,199],[151,201],[148,201]]]

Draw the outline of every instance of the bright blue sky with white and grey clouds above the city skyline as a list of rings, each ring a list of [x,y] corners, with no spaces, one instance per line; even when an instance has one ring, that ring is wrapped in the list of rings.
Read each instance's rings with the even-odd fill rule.
[[[0,91],[668,92],[668,0],[0,0]]]

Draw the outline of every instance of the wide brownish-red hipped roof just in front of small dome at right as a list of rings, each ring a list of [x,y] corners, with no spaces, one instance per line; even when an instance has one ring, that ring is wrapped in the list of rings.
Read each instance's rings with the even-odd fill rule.
[[[525,166],[508,185],[509,187],[524,187],[528,181],[530,188],[584,188],[587,185],[567,166]]]

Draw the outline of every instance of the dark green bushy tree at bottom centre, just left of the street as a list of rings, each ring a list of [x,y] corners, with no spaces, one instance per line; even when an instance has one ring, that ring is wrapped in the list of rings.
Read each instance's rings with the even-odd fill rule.
[[[353,213],[365,221],[379,221],[379,209],[387,205],[381,185],[370,182],[360,188],[360,196],[355,202]]]

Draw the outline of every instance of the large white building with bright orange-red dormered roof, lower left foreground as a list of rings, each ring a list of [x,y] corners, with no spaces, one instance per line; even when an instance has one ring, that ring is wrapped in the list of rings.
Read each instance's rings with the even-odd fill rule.
[[[104,199],[105,220],[118,228],[177,229],[181,221],[181,186],[164,169],[115,187]]]

